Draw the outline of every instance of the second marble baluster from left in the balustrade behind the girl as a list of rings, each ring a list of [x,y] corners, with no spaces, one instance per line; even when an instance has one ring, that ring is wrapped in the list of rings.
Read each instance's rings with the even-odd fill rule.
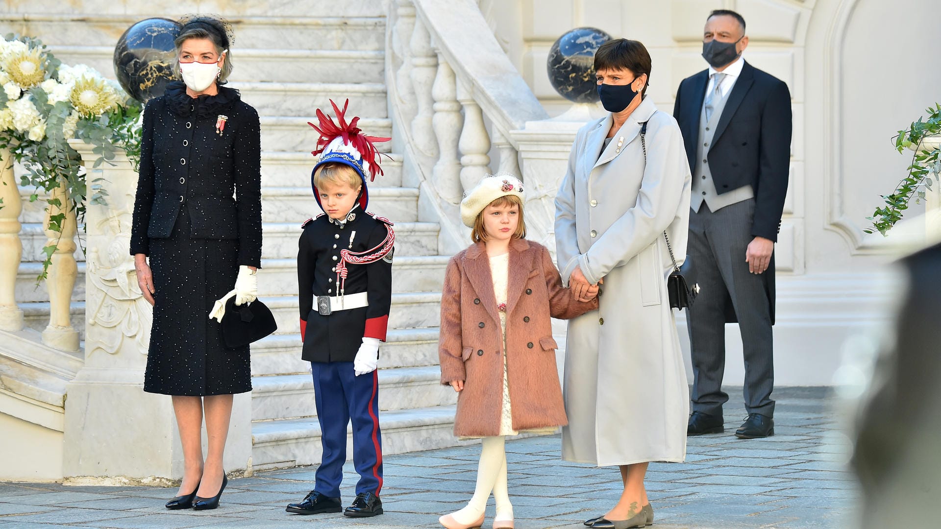
[[[429,158],[430,162],[438,157],[438,141],[432,128],[435,101],[431,96],[431,88],[438,73],[438,57],[431,47],[431,35],[419,19],[415,20],[415,30],[412,32],[411,53],[410,75],[418,104],[418,112],[411,123],[411,143],[415,150]]]

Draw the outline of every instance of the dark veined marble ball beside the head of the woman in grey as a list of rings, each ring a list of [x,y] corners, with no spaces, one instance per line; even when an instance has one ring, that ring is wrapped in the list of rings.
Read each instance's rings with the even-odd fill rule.
[[[595,52],[611,35],[595,27],[576,27],[552,44],[546,68],[559,95],[574,103],[597,103]]]

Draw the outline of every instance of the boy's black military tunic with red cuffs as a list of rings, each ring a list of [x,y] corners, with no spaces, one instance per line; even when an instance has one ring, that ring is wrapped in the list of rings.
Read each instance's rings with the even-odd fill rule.
[[[317,296],[340,296],[336,266],[340,250],[366,251],[382,244],[388,221],[359,206],[345,224],[321,215],[304,224],[297,251],[297,292],[300,325],[304,332],[305,361],[353,361],[362,338],[385,341],[392,301],[392,251],[370,264],[347,264],[345,296],[368,293],[369,306],[322,315],[314,304]],[[355,234],[354,234],[355,233]]]

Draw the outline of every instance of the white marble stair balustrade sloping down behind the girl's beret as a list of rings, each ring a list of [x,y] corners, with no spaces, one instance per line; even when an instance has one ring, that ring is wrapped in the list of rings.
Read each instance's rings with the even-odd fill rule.
[[[520,171],[511,133],[548,116],[475,4],[397,0],[387,31],[393,145],[423,191],[420,216],[440,222],[439,250],[454,253],[469,240],[460,200],[484,175],[510,172],[543,187]]]

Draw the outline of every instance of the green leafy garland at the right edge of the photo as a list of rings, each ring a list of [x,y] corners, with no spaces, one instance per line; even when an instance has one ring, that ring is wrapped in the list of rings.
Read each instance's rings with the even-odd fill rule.
[[[919,146],[925,137],[941,135],[941,104],[934,104],[926,112],[927,120],[918,118],[907,130],[901,130],[895,136],[895,147],[899,152]],[[941,173],[941,150],[917,148],[908,166],[908,176],[896,186],[895,192],[882,196],[885,206],[877,207],[872,216],[866,217],[872,221],[872,226],[864,231],[885,235],[904,216],[913,196],[917,196],[915,201],[918,203],[925,198],[925,189],[931,190],[933,184],[939,182],[938,173]]]

